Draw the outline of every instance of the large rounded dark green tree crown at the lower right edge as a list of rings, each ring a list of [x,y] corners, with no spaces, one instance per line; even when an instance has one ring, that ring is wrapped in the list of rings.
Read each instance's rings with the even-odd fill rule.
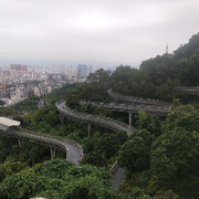
[[[198,132],[167,130],[154,142],[150,151],[150,169],[161,188],[184,197],[198,197]]]

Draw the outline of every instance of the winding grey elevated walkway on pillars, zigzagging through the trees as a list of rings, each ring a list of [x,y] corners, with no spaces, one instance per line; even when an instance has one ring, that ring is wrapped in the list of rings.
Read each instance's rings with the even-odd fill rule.
[[[133,103],[134,105],[126,105],[126,104],[116,105],[113,103],[111,104],[92,103],[92,105],[103,106],[106,108],[112,108],[115,111],[129,113],[129,124],[132,124],[132,113],[135,113],[140,109],[147,113],[153,113],[153,114],[158,114],[158,115],[164,115],[170,112],[170,104],[165,103],[165,102],[160,102],[157,100],[134,97],[134,96],[126,96],[126,95],[122,95],[119,93],[114,92],[112,88],[109,88],[107,93],[111,97],[115,100]],[[91,124],[98,125],[101,127],[108,128],[114,132],[117,132],[117,130],[126,132],[127,135],[130,135],[135,130],[135,128],[133,128],[132,125],[128,126],[124,123],[117,122],[108,117],[81,113],[81,112],[71,109],[70,107],[65,105],[65,102],[56,102],[55,107],[57,112],[60,113],[60,118],[62,122],[64,117],[69,117],[71,119],[87,123],[88,136],[90,136]],[[24,139],[32,139],[38,143],[45,144],[51,147],[51,158],[55,156],[55,148],[65,151],[66,159],[71,160],[75,165],[78,165],[78,161],[83,157],[82,146],[80,146],[76,142],[64,138],[64,137],[54,136],[50,134],[35,133],[35,132],[22,129],[22,128],[20,128],[19,130],[15,130],[15,129],[10,128],[10,126],[7,126],[7,125],[6,126],[2,125],[2,128],[0,128],[0,134],[3,136],[18,138],[20,146],[22,144],[22,140]],[[123,181],[124,169],[119,168],[116,161],[111,168],[109,172],[113,175],[112,177],[113,185],[115,187],[118,187],[119,184]]]

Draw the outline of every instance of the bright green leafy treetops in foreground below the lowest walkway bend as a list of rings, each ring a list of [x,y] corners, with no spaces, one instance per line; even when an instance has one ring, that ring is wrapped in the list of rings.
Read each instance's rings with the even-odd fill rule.
[[[127,198],[111,185],[103,168],[76,167],[65,159],[54,159],[12,174],[0,182],[0,198]]]

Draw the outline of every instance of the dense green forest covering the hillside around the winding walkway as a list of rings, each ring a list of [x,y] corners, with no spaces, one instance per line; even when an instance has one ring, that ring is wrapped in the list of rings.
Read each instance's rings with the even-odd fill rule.
[[[44,98],[32,96],[1,107],[0,115],[21,121],[24,128],[76,140],[84,158],[76,167],[57,150],[56,159],[48,160],[46,146],[25,140],[21,148],[17,139],[0,137],[0,198],[199,198],[199,98],[180,95],[174,90],[179,85],[199,85],[199,33],[174,54],[144,61],[140,69],[121,65],[113,73],[101,69],[85,83],[65,84]],[[86,124],[60,123],[54,106],[59,100],[76,111],[127,123],[126,113],[78,104],[82,98],[113,102],[109,87],[174,102],[172,112],[167,116],[138,112],[133,118],[137,130],[130,136],[92,125],[88,138]],[[39,108],[41,100],[44,106]],[[108,172],[116,160],[126,170],[119,189],[112,187]]]

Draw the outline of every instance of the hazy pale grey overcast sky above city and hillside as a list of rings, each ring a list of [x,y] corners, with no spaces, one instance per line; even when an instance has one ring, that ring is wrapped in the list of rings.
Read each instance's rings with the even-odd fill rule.
[[[199,0],[0,0],[0,64],[130,64],[199,32]]]

